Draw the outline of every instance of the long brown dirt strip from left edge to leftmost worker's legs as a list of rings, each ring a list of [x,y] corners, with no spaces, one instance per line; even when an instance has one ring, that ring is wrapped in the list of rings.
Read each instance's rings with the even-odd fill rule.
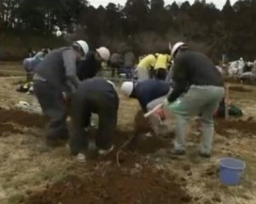
[[[0,123],[11,122],[25,127],[45,127],[49,119],[38,114],[20,110],[6,110],[0,108]]]

